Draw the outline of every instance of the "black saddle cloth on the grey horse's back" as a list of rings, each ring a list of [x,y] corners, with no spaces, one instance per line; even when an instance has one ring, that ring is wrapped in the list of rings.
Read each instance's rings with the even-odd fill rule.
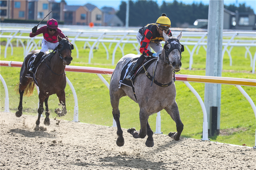
[[[131,71],[133,65],[137,62],[137,60],[139,59],[139,57],[137,58],[132,58],[130,61],[128,61],[125,66],[122,68],[121,71],[121,77],[120,77],[120,81],[119,81],[119,88],[122,85],[126,85],[128,87],[132,87],[134,88],[134,84],[131,81],[128,81],[125,79],[125,77],[129,74],[129,72]],[[157,60],[157,57],[147,57],[144,62],[142,63],[141,66],[138,67],[137,71],[135,72],[135,74],[132,76],[132,78],[135,80],[136,75],[138,75],[139,73],[144,73],[145,70],[143,68],[143,65],[145,67],[145,69],[147,69],[154,61]]]

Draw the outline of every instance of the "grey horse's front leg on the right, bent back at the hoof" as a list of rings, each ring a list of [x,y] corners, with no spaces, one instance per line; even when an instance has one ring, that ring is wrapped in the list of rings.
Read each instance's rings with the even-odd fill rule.
[[[180,118],[180,112],[179,108],[176,102],[174,102],[173,105],[166,107],[165,108],[166,112],[171,116],[171,118],[175,121],[176,123],[176,132],[170,132],[168,136],[173,138],[174,140],[180,140],[181,133],[183,131],[183,123],[181,122]]]

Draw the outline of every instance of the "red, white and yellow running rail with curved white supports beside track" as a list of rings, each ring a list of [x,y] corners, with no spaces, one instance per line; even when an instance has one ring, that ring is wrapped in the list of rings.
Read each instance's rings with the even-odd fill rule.
[[[0,66],[21,67],[22,63],[23,62],[0,61]],[[114,69],[96,68],[96,67],[82,67],[82,66],[66,66],[65,71],[95,73],[103,81],[103,83],[109,88],[108,82],[106,82],[105,79],[100,74],[112,74]],[[175,78],[176,78],[176,81],[182,81],[188,86],[188,88],[197,97],[197,99],[198,99],[198,101],[199,101],[199,103],[202,107],[202,111],[203,111],[203,138],[202,138],[202,140],[209,140],[208,139],[207,113],[206,113],[206,109],[205,109],[205,106],[204,106],[204,103],[203,103],[201,97],[199,96],[197,91],[188,82],[235,85],[239,89],[239,91],[244,95],[244,97],[248,100],[248,102],[251,104],[251,106],[253,108],[255,118],[256,118],[256,106],[253,103],[252,99],[246,94],[246,92],[241,87],[241,86],[256,87],[256,79],[213,77],[213,76],[201,76],[201,75],[181,75],[181,74],[176,74]],[[2,80],[3,79],[1,79],[1,81]],[[71,82],[70,82],[70,84],[71,84]],[[4,85],[4,83],[3,83],[3,85]],[[4,87],[5,86],[6,86],[6,84],[4,85]],[[71,86],[70,87],[73,89],[74,98],[76,98],[76,94],[75,94],[75,90],[73,88],[73,85],[71,84]],[[7,88],[7,87],[5,87],[5,88]],[[76,98],[76,100],[77,100],[77,98]],[[8,106],[8,108],[9,108],[9,106]],[[157,127],[158,131],[159,131],[159,127],[161,127],[161,125],[158,124],[158,123],[161,123],[161,121],[159,121],[159,118],[160,118],[160,114],[158,115],[157,121],[156,121],[157,122],[156,127]],[[74,121],[75,120],[78,121],[78,106],[77,106],[76,113],[75,113],[75,109],[74,109]],[[113,125],[114,124],[115,124],[115,122],[113,121]],[[254,148],[256,148],[256,130],[255,130],[255,146],[254,146]]]

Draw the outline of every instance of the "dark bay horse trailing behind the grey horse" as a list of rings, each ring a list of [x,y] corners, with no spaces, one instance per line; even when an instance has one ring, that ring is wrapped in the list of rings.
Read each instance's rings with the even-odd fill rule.
[[[44,111],[43,103],[45,103],[45,119],[44,124],[49,125],[49,109],[48,109],[48,99],[49,96],[56,94],[59,98],[59,102],[62,106],[62,110],[58,111],[55,109],[56,114],[60,116],[64,116],[67,114],[66,109],[66,99],[65,99],[65,87],[66,87],[66,75],[65,75],[65,67],[69,65],[72,61],[71,50],[74,49],[73,45],[70,43],[69,38],[61,39],[58,36],[59,44],[56,49],[55,55],[48,60],[48,57],[42,62],[37,72],[35,73],[35,77],[39,87],[39,108],[38,108],[38,119],[35,122],[36,127],[34,130],[39,130],[40,117]],[[17,117],[22,116],[22,98],[25,92],[25,95],[29,96],[33,94],[34,89],[34,79],[27,78],[26,73],[28,70],[28,61],[30,57],[39,52],[39,50],[34,50],[28,53],[25,57],[25,60],[22,64],[22,68],[20,69],[20,78],[19,78],[19,106],[18,111],[15,113]]]

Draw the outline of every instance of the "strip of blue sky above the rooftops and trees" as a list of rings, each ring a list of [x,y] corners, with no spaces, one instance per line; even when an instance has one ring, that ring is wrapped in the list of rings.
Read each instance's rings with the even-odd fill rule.
[[[56,0],[59,2],[60,0]],[[126,1],[126,0],[123,0]],[[157,1],[158,5],[162,4],[163,0],[154,0]],[[178,2],[182,2],[185,4],[192,4],[200,3],[203,4],[209,4],[209,0],[177,0]],[[84,5],[86,3],[91,3],[98,8],[102,8],[103,6],[109,6],[115,8],[115,10],[119,10],[119,5],[121,4],[122,0],[66,0],[68,5]],[[165,2],[173,2],[173,0],[165,0]],[[246,6],[251,6],[251,8],[254,10],[254,13],[256,11],[256,0],[224,0],[225,5],[234,4],[238,2],[239,3],[245,3]]]

